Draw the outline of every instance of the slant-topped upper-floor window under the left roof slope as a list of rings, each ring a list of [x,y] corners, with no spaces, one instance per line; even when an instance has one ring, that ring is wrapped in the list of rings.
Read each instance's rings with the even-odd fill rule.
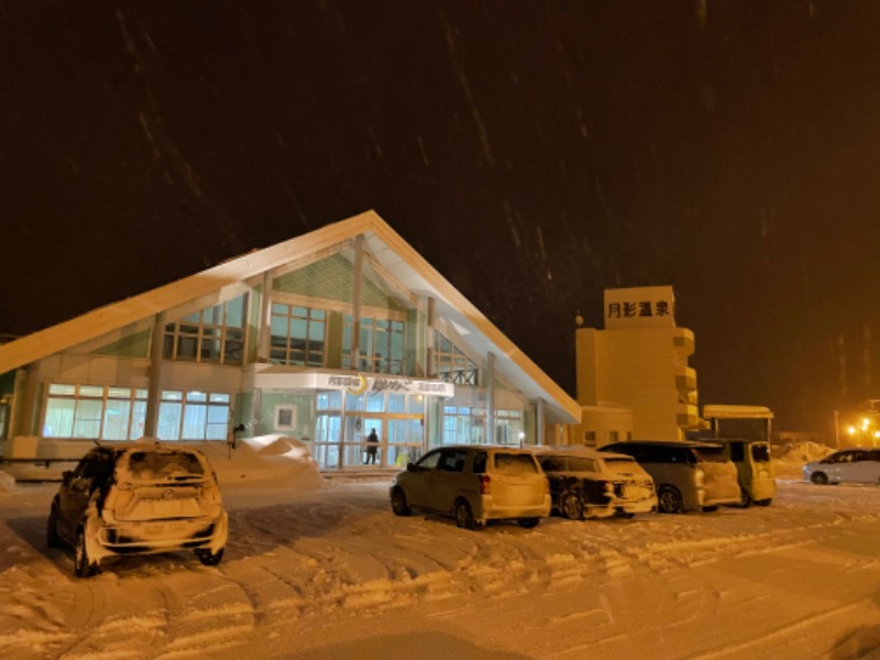
[[[165,326],[166,360],[241,364],[248,296],[215,305]]]

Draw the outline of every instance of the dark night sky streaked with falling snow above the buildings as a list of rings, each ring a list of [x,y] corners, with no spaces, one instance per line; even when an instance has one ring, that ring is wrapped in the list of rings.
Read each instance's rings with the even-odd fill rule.
[[[0,333],[375,209],[574,395],[672,285],[701,403],[880,398],[880,2],[0,0]]]

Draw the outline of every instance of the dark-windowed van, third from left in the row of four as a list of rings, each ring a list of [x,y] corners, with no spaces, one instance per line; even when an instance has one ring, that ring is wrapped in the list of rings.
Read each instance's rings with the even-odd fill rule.
[[[601,451],[636,459],[653,479],[658,509],[667,514],[712,510],[740,502],[736,466],[721,444],[688,440],[630,440]]]

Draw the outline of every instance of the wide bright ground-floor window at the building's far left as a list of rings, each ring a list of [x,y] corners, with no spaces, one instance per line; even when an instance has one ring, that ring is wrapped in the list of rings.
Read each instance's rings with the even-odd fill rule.
[[[53,383],[46,397],[43,436],[136,440],[146,419],[146,389]]]

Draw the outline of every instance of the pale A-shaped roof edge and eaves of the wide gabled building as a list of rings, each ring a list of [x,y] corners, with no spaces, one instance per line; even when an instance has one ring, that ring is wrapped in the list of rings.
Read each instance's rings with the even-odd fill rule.
[[[530,399],[543,399],[548,421],[576,424],[581,407],[556,382],[504,336],[480,310],[416,252],[377,213],[367,211],[307,234],[232,258],[196,275],[178,279],[139,296],[84,314],[45,330],[0,345],[0,374],[88,342],[127,326],[142,323],[157,314],[200,298],[217,297],[223,289],[239,289],[267,271],[307,263],[364,238],[364,253],[378,276],[398,283],[419,297],[432,297],[437,312],[476,352],[495,355],[495,370]]]

